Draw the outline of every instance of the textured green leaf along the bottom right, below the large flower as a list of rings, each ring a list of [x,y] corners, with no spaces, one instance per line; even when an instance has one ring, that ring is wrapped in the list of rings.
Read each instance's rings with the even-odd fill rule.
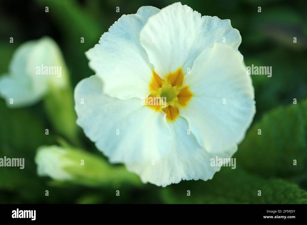
[[[187,191],[190,190],[190,196]],[[258,191],[261,196],[258,196]],[[295,183],[249,174],[238,165],[224,167],[209,181],[182,181],[161,190],[165,203],[306,204],[307,192]]]

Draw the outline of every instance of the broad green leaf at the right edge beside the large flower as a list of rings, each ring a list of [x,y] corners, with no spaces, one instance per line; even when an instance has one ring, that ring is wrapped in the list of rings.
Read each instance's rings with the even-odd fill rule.
[[[261,135],[258,135],[261,129]],[[307,100],[266,113],[247,132],[234,157],[264,177],[290,178],[307,168]],[[293,165],[293,160],[297,165]]]

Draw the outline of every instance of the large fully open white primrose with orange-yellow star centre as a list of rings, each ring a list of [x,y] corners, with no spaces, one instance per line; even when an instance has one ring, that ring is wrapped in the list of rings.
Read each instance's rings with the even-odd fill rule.
[[[255,114],[240,43],[229,20],[181,3],[123,15],[86,52],[96,75],[75,88],[77,124],[142,182],[212,179]]]

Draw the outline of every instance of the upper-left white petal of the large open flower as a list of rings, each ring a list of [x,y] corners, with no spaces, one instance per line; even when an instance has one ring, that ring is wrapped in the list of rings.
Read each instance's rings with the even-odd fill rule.
[[[153,68],[139,34],[147,19],[159,10],[143,6],[136,14],[123,15],[101,36],[99,44],[86,52],[89,66],[106,84],[107,95],[129,99],[149,94]]]

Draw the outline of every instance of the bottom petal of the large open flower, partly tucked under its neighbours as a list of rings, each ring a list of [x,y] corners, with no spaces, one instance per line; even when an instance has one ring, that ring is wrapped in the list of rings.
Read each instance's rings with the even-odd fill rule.
[[[126,165],[129,171],[139,174],[142,182],[165,187],[181,180],[212,179],[221,167],[212,167],[210,160],[216,156],[230,158],[237,150],[234,144],[223,152],[207,152],[200,147],[192,133],[187,134],[188,123],[183,117],[177,118],[170,126],[173,142],[165,158],[156,159],[154,165],[148,162]]]

